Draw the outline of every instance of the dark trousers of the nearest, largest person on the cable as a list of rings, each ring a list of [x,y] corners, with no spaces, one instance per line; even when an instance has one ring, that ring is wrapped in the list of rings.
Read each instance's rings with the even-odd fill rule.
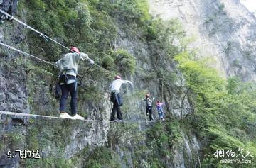
[[[77,95],[78,95],[78,93],[77,93],[78,91],[76,89],[76,82],[71,83],[71,84],[61,84],[60,88],[61,88],[60,112],[65,111],[65,102],[68,99],[68,92],[70,92],[71,114],[75,115],[77,113],[76,105],[77,105]]]

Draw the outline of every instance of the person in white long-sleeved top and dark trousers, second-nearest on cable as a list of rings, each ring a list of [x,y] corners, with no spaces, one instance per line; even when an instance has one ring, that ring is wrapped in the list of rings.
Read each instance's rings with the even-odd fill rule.
[[[122,121],[122,112],[120,106],[122,106],[122,95],[120,94],[120,88],[122,84],[131,84],[132,82],[128,80],[122,80],[120,76],[114,77],[114,81],[110,84],[110,101],[113,102],[113,108],[111,112],[110,121],[119,122]],[[117,119],[115,119],[115,113],[117,113]]]

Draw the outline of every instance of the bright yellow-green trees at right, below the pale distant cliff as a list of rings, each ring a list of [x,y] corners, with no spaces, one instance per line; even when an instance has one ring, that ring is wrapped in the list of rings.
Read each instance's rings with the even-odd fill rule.
[[[207,155],[203,157],[203,167],[223,166],[212,156],[216,150],[238,152],[239,148],[243,148],[255,155],[255,147],[247,148],[248,143],[255,142],[255,129],[247,129],[253,125],[251,121],[255,118],[255,101],[252,99],[255,84],[244,84],[237,77],[225,82],[209,66],[209,59],[197,59],[188,52],[177,55],[175,60],[186,79],[186,86],[192,89],[188,96],[196,105],[191,123],[193,129],[208,140],[204,148]]]

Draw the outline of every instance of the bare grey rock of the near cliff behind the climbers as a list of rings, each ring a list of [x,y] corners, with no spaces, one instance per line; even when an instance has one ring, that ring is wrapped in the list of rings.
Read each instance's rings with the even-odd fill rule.
[[[18,17],[26,22],[26,9],[18,12]],[[119,24],[122,24],[120,22]],[[119,26],[118,38],[114,44],[115,48],[125,48],[132,55],[137,57],[137,67],[142,67],[146,72],[154,70],[151,59],[151,51],[142,35],[134,35],[122,26]],[[1,41],[8,45],[30,51],[28,48],[27,30],[16,22],[4,21],[0,28]],[[31,33],[31,32],[30,32]],[[33,51],[30,51],[33,53]],[[36,113],[46,116],[58,115],[58,100],[53,96],[53,74],[45,75],[41,62],[35,62],[29,57],[18,55],[18,53],[3,48],[1,50],[0,64],[0,110],[14,111],[17,113]],[[175,65],[174,65],[175,67]],[[129,121],[145,121],[147,118],[144,113],[144,94],[137,91],[148,90],[151,94],[159,96],[160,88],[158,79],[142,81],[146,74],[138,71],[129,77],[134,85],[134,90],[129,89],[124,96],[125,104],[122,106],[123,116]],[[174,89],[175,90],[175,89]],[[130,99],[132,98],[132,99]],[[111,104],[105,94],[98,104],[86,102],[79,105],[79,111],[87,115],[89,119],[110,120]],[[171,102],[169,113],[174,116],[180,115],[178,108],[180,103],[178,96],[164,94],[164,99]],[[187,106],[189,106],[187,104]],[[86,109],[86,110],[85,110]],[[169,114],[169,116],[171,116]],[[154,113],[154,118],[157,114]],[[1,115],[1,167],[20,167],[22,160],[16,153],[14,158],[6,158],[6,152],[15,150],[40,150],[41,157],[73,159],[76,158],[77,167],[82,167],[81,151],[93,150],[97,147],[111,147],[117,153],[117,160],[120,167],[134,167],[133,159],[140,145],[146,144],[145,131],[153,124],[135,123],[118,128],[118,125],[110,123],[94,123],[82,121],[50,120],[47,118],[27,118],[18,116]],[[122,132],[121,132],[122,131]],[[174,147],[174,156],[166,159],[169,167],[187,167],[188,159],[183,157],[183,152],[188,153],[192,158],[192,153],[199,149],[198,141],[193,135],[193,140],[189,140],[186,134],[182,135],[184,144]],[[152,145],[151,150],[154,150]],[[165,159],[164,159],[165,160]],[[55,161],[54,161],[55,162]],[[79,162],[81,162],[79,164]],[[143,161],[144,166],[150,167],[151,164]],[[163,161],[164,162],[164,161]]]

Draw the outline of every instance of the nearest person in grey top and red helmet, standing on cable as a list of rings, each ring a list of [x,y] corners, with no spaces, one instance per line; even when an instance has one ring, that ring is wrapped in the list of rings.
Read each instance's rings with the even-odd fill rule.
[[[87,54],[80,52],[77,47],[71,47],[70,52],[63,55],[63,57],[55,63],[58,69],[60,69],[58,76],[61,89],[60,118],[85,119],[77,114],[76,109],[78,95],[76,75],[78,74],[78,63],[80,60],[89,60],[91,65],[94,64],[94,61],[91,60]],[[65,102],[68,99],[68,92],[70,92],[71,95],[71,116],[65,112]]]

